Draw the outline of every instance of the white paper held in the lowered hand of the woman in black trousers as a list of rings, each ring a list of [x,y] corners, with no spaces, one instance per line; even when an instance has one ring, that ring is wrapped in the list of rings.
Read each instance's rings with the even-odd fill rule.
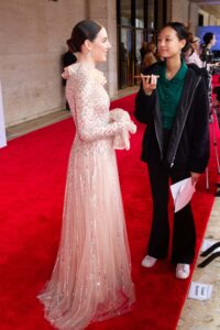
[[[183,179],[170,186],[172,196],[174,198],[175,212],[183,209],[190,200],[196,191],[195,186],[191,184],[191,177]]]

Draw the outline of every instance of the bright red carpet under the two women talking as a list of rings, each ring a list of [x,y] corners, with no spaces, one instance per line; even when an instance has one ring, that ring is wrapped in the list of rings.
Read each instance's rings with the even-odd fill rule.
[[[133,103],[134,96],[130,96],[113,101],[112,108],[132,111]],[[143,129],[139,125],[132,136],[130,152],[118,152],[136,304],[132,312],[92,324],[90,330],[174,330],[187,295],[189,280],[176,279],[168,261],[158,262],[153,270],[141,267],[152,213],[146,166],[140,161]],[[1,330],[52,329],[35,297],[50,278],[57,252],[73,138],[74,124],[68,119],[13,140],[0,150]],[[210,190],[206,191],[202,176],[193,200],[198,249],[216,191],[213,155],[209,168]]]

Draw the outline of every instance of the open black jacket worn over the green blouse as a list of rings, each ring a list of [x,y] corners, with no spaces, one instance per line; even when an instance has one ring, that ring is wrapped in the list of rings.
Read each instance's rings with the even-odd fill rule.
[[[160,63],[144,74],[156,74]],[[198,68],[198,67],[197,67]],[[209,160],[209,100],[199,68],[189,67],[183,95],[169,134],[166,153],[163,150],[163,125],[157,91],[146,96],[141,86],[135,99],[135,118],[146,124],[142,143],[142,161],[157,154],[169,167],[186,166],[190,172],[202,173]]]

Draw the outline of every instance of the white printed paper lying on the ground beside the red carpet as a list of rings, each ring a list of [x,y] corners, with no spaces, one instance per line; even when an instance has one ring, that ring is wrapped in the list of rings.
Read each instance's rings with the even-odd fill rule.
[[[197,300],[211,299],[212,285],[198,282],[191,282],[188,298]]]

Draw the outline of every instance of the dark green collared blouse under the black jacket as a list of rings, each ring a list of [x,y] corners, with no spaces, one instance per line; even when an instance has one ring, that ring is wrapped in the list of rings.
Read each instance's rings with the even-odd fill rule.
[[[157,91],[164,129],[170,129],[173,125],[187,69],[187,65],[183,61],[178,73],[174,76],[174,78],[168,80],[166,78],[166,63],[160,67]]]

